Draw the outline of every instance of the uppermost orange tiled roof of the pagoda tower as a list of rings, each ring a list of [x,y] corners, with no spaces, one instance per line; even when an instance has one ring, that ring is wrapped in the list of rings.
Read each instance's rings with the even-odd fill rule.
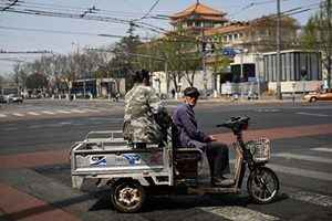
[[[187,17],[193,13],[197,13],[197,14],[205,14],[205,15],[212,15],[212,17],[224,17],[226,15],[225,12],[218,11],[216,9],[209,8],[205,4],[201,3],[195,3],[190,7],[188,7],[187,9],[185,9],[181,12],[175,13],[173,15],[170,15],[172,19],[176,20],[183,17]]]

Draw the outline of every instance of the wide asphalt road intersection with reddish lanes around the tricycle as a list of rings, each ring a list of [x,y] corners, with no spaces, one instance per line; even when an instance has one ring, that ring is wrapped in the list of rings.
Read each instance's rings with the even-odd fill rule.
[[[331,103],[198,104],[196,116],[206,133],[230,136],[215,125],[247,115],[250,130],[271,137],[268,166],[281,182],[278,199],[255,204],[246,188],[239,196],[163,196],[149,198],[142,213],[121,214],[110,204],[108,189],[93,183],[82,191],[71,188],[70,164],[61,160],[64,156],[59,162],[51,156],[48,160],[55,164],[46,164],[38,161],[38,154],[68,151],[91,130],[121,129],[122,103],[40,101],[1,106],[0,164],[6,164],[0,166],[4,196],[0,220],[38,220],[43,214],[53,215],[52,220],[331,220]],[[14,197],[21,199],[19,203]]]

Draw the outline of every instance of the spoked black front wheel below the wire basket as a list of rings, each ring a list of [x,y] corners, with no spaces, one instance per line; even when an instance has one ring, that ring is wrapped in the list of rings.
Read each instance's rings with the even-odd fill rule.
[[[259,167],[250,172],[247,181],[247,190],[257,203],[271,202],[279,191],[279,179],[273,170]]]

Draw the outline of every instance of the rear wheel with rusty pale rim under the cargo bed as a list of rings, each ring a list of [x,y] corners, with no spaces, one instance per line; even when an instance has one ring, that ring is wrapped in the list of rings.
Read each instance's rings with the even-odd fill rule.
[[[120,212],[139,211],[145,199],[145,190],[137,181],[122,180],[112,186],[111,200],[114,208]]]

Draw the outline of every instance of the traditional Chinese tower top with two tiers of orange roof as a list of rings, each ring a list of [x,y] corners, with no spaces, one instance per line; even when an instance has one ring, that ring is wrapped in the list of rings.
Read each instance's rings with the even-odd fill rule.
[[[211,9],[197,0],[195,4],[184,11],[170,15],[170,24],[175,30],[201,32],[206,29],[225,25],[228,22],[225,15],[225,12]]]

